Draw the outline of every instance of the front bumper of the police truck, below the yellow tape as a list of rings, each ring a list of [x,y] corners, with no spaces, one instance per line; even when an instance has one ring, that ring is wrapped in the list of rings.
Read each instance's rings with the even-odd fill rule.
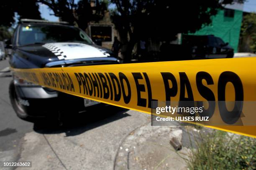
[[[83,98],[41,86],[15,85],[15,91],[30,117],[56,117],[60,112],[75,113],[85,110]]]

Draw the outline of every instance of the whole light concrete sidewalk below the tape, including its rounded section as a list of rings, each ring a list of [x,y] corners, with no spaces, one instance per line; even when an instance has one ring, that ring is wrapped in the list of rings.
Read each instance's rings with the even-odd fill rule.
[[[20,161],[32,161],[28,170],[185,170],[189,149],[184,127],[151,126],[150,115],[128,110],[120,119],[95,128],[71,132],[27,133]],[[105,120],[101,120],[105,121]],[[91,126],[91,125],[88,125]],[[183,144],[176,152],[172,137]],[[17,168],[25,170],[26,168]]]

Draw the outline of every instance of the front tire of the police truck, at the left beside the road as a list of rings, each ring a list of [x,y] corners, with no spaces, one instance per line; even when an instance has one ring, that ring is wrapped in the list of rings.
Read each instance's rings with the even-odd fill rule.
[[[16,112],[16,115],[20,117],[20,119],[31,121],[31,117],[28,116],[27,108],[18,102],[18,95],[15,90],[13,80],[10,82],[9,85],[9,96],[10,102],[13,106],[14,111]]]

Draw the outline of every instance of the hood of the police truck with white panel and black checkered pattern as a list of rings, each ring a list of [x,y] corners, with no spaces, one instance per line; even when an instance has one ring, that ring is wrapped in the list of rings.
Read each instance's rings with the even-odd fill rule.
[[[17,47],[16,54],[23,60],[38,65],[38,67],[44,67],[46,63],[57,60],[113,57],[111,50],[79,42],[54,42],[21,46]]]

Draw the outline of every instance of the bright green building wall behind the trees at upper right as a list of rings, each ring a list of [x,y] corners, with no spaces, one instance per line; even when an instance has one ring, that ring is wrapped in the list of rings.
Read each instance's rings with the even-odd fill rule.
[[[224,10],[220,10],[212,18],[211,25],[203,27],[192,35],[215,35],[228,42],[234,48],[234,52],[237,52],[242,19],[243,11],[241,10],[235,10],[233,18],[225,17]]]

